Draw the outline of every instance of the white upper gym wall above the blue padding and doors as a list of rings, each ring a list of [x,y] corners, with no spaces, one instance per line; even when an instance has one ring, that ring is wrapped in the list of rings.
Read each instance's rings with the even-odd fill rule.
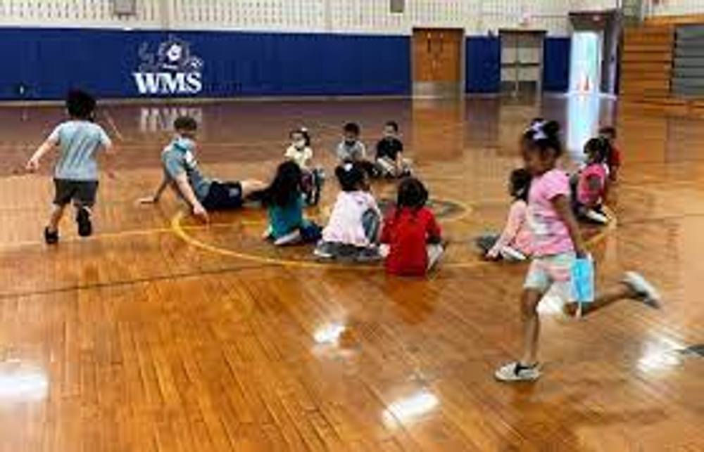
[[[566,34],[571,1],[406,0],[406,12],[394,14],[389,0],[137,0],[136,17],[116,18],[110,0],[0,0],[0,25],[382,34],[526,27]]]

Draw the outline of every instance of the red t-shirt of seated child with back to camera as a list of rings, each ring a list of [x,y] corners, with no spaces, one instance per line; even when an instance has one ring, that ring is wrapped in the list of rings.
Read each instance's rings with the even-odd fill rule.
[[[428,266],[426,245],[439,240],[440,226],[427,207],[392,209],[384,219],[382,243],[389,245],[386,271],[401,276],[424,276]]]

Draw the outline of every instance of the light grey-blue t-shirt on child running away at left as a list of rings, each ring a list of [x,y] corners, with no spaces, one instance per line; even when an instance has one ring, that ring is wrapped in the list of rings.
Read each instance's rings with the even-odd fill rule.
[[[101,148],[112,144],[102,127],[88,121],[67,121],[51,132],[49,140],[58,143],[61,148],[61,155],[54,168],[56,179],[98,180],[95,155]]]

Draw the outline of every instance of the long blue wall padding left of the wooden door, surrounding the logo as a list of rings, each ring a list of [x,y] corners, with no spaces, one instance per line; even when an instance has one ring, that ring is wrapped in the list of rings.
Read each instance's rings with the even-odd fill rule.
[[[410,93],[409,37],[171,34],[203,61],[198,96]],[[0,58],[6,62],[0,71],[0,98],[57,99],[73,86],[103,98],[138,97],[132,74],[143,63],[140,46],[156,53],[169,37],[158,31],[0,28]],[[18,93],[19,84],[28,88],[24,96]]]

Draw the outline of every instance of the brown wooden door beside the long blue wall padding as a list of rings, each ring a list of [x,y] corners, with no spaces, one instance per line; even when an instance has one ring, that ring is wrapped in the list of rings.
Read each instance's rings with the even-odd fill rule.
[[[459,83],[463,30],[413,30],[413,81]]]

